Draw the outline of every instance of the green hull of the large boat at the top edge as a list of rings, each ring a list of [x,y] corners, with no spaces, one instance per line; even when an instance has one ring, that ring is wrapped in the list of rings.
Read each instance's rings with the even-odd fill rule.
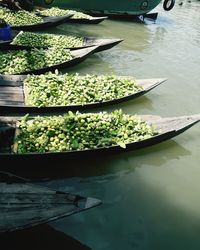
[[[60,8],[81,9],[86,11],[99,11],[106,13],[131,13],[142,15],[154,9],[161,0],[36,0],[35,4],[43,7],[57,6]]]

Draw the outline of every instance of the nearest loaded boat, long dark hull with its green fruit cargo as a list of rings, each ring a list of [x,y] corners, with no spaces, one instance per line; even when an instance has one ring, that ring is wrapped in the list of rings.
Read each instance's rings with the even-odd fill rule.
[[[105,119],[107,119],[107,120],[105,120],[105,119],[104,120],[108,122],[108,120],[111,118],[111,120],[110,120],[111,123],[112,124],[115,123],[116,126],[118,126],[119,122],[120,122],[119,120],[121,119],[121,121],[123,122],[121,124],[123,124],[123,125],[118,126],[119,132],[121,131],[120,127],[123,127],[125,123],[129,127],[128,133],[130,135],[128,135],[128,134],[124,135],[126,137],[122,138],[122,140],[120,142],[119,141],[118,142],[116,141],[116,143],[114,142],[114,140],[116,140],[115,135],[118,133],[118,131],[113,130],[113,132],[112,131],[111,132],[115,133],[115,134],[111,134],[110,137],[107,137],[104,139],[99,137],[99,141],[97,142],[98,144],[92,145],[91,140],[92,140],[92,138],[93,139],[96,138],[94,136],[94,134],[95,133],[98,134],[98,131],[99,131],[98,128],[91,129],[91,133],[87,132],[89,142],[86,141],[86,139],[87,139],[86,137],[85,137],[86,139],[83,141],[81,141],[82,137],[78,138],[78,139],[80,139],[79,141],[76,140],[76,138],[74,137],[74,134],[78,133],[78,132],[76,131],[76,129],[73,130],[73,128],[77,128],[78,125],[74,127],[73,124],[75,124],[75,123],[79,124],[81,122],[79,124],[79,127],[82,126],[81,131],[83,131],[84,130],[83,126],[84,126],[84,124],[86,124],[84,122],[84,119],[91,120],[92,116],[94,117],[94,119],[98,119],[98,115],[94,114],[94,113],[93,114],[92,113],[80,114],[78,117],[78,121],[77,121],[77,118],[75,118],[75,116],[77,116],[77,113],[75,115],[75,114],[72,114],[72,112],[70,111],[68,114],[65,114],[64,119],[61,116],[59,116],[58,118],[60,119],[61,123],[63,122],[63,124],[64,124],[64,127],[63,127],[64,132],[63,132],[61,139],[62,140],[66,139],[65,141],[67,141],[67,143],[69,142],[72,145],[72,148],[66,149],[64,151],[59,151],[55,147],[56,147],[56,145],[61,145],[61,144],[58,144],[56,142],[56,144],[53,143],[54,144],[53,147],[50,146],[50,148],[52,149],[51,152],[50,151],[45,152],[46,147],[45,147],[44,152],[41,150],[41,148],[39,148],[39,150],[36,150],[38,148],[38,145],[39,145],[39,144],[38,145],[36,145],[36,144],[37,144],[38,140],[40,140],[38,138],[36,138],[34,140],[31,139],[32,141],[29,139],[30,147],[29,147],[29,144],[27,144],[27,145],[30,148],[30,152],[28,152],[26,150],[24,151],[25,147],[24,147],[24,145],[21,144],[21,142],[25,141],[25,140],[27,142],[28,139],[24,139],[23,136],[24,135],[26,136],[26,134],[25,133],[22,134],[23,132],[19,129],[19,121],[21,120],[21,118],[20,117],[2,117],[2,118],[0,118],[0,139],[1,139],[0,140],[0,159],[1,160],[9,160],[9,161],[10,160],[14,160],[14,161],[19,160],[22,163],[22,162],[26,162],[26,160],[30,161],[30,160],[37,159],[40,161],[41,160],[42,161],[46,161],[46,160],[50,161],[52,159],[60,159],[60,158],[70,159],[71,157],[72,157],[72,159],[78,159],[80,157],[83,157],[83,158],[88,157],[88,156],[90,156],[90,157],[95,156],[96,157],[96,156],[100,156],[100,155],[105,156],[105,155],[110,155],[110,154],[115,154],[115,153],[122,153],[122,152],[130,151],[130,150],[145,148],[147,146],[152,146],[152,145],[155,145],[157,143],[171,139],[171,138],[183,133],[184,131],[191,128],[193,125],[195,125],[196,123],[198,123],[200,121],[199,114],[188,115],[188,116],[179,116],[179,117],[167,117],[167,118],[163,118],[163,117],[155,116],[155,115],[140,115],[140,116],[138,116],[137,119],[135,119],[134,117],[132,119],[131,116],[125,116],[125,119],[124,119],[123,115],[119,112],[118,112],[118,114],[116,112],[114,112],[113,114],[114,114],[114,116],[105,115]],[[100,115],[102,116],[102,114],[100,114]],[[104,113],[103,113],[103,115],[104,115]],[[117,119],[115,119],[115,117]],[[113,122],[113,118],[115,119],[114,122]],[[28,119],[28,120],[26,120],[26,119]],[[30,117],[30,119],[29,119],[27,116],[24,117],[23,122],[22,122],[22,126],[24,126],[24,124],[27,124],[28,126],[30,125],[34,129],[34,126],[35,126],[34,124],[36,124],[36,129],[38,129],[38,127],[40,125],[47,126],[47,123],[48,123],[48,128],[51,130],[50,125],[49,125],[51,123],[50,120],[53,121],[52,124],[54,124],[54,125],[55,125],[55,122],[57,122],[59,124],[59,120],[57,118],[55,119],[55,117],[45,118],[45,123],[42,121],[43,118],[41,118],[39,116],[36,117],[35,121],[33,119],[35,119],[35,118]],[[48,120],[50,121],[50,123]],[[68,123],[67,120],[69,120],[70,122]],[[79,122],[79,120],[80,120],[80,122]],[[137,127],[135,127],[135,128],[130,127],[130,126],[132,126],[132,125],[130,125],[132,123],[131,120],[133,121],[133,123],[138,124]],[[109,123],[109,124],[111,124],[111,123]],[[27,125],[25,125],[25,126],[27,126]],[[27,126],[27,128],[28,128],[28,126]],[[95,127],[96,125],[93,124],[91,126]],[[69,127],[69,129],[68,129],[68,127]],[[59,125],[59,128],[62,130],[62,126]],[[154,128],[156,128],[156,130]],[[99,127],[99,129],[101,129],[100,134],[102,134],[102,133],[108,134],[108,132],[109,132],[106,130],[106,126],[104,126],[104,125],[102,128]],[[50,131],[50,130],[48,130],[48,131]],[[146,130],[146,132],[145,132],[145,130]],[[36,130],[36,131],[38,133],[38,130]],[[43,129],[43,131],[46,131],[46,130]],[[52,136],[52,132],[51,131],[48,132],[48,131],[47,131],[47,133],[50,133],[49,135]],[[55,128],[53,128],[53,131],[54,131],[53,132],[53,137],[54,137]],[[73,132],[73,136],[71,138],[69,138],[71,131],[75,131],[75,132]],[[87,130],[87,131],[89,131],[89,130]],[[82,134],[85,135],[85,133],[82,133]],[[123,134],[124,134],[124,132],[123,132]],[[80,135],[80,133],[79,133],[79,135]],[[122,134],[120,132],[119,136],[121,136],[121,135]],[[139,137],[137,135],[139,135]],[[137,137],[137,139],[135,139],[135,136]],[[20,138],[20,139],[17,139],[17,138]],[[30,138],[35,138],[35,137],[31,136]],[[109,141],[109,139],[114,139],[114,140]],[[51,144],[51,141],[52,140],[49,139],[47,141],[47,144],[49,142]],[[87,147],[79,148],[79,146],[82,145],[82,143],[86,143]],[[34,146],[33,144],[36,146]],[[91,144],[92,146],[91,145],[88,146],[88,144]],[[33,147],[34,147],[34,149],[33,149]]]

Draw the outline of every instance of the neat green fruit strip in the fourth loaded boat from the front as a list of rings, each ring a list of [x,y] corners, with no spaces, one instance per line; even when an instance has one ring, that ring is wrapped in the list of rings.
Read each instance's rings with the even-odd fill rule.
[[[12,44],[32,47],[59,46],[63,48],[74,48],[83,46],[84,38],[76,36],[20,32],[15,37]]]

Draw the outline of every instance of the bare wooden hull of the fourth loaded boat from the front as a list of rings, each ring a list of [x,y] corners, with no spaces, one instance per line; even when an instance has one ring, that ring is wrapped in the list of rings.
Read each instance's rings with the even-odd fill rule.
[[[21,31],[23,32],[23,31]],[[28,46],[23,46],[23,45],[11,45],[13,39],[19,34],[20,32],[16,31],[13,33],[13,38],[12,40],[9,41],[0,41],[0,49],[3,48],[8,48],[11,46],[15,49],[26,49],[29,48]],[[96,37],[84,37],[84,42],[83,42],[83,46],[81,47],[66,47],[66,49],[83,49],[83,48],[88,48],[91,46],[98,46],[98,48],[94,51],[94,53],[96,52],[100,52],[103,50],[107,50],[107,49],[111,49],[112,47],[114,47],[115,45],[119,44],[120,42],[122,42],[123,39],[115,39],[115,38],[96,38]],[[37,48],[45,48],[43,46],[37,46]]]

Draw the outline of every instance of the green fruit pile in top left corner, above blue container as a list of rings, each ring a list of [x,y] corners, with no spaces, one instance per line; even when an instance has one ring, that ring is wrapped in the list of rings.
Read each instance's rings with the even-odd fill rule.
[[[37,16],[33,12],[25,10],[11,11],[1,6],[0,6],[0,18],[4,19],[6,23],[8,23],[11,26],[25,26],[43,22],[43,18]]]

